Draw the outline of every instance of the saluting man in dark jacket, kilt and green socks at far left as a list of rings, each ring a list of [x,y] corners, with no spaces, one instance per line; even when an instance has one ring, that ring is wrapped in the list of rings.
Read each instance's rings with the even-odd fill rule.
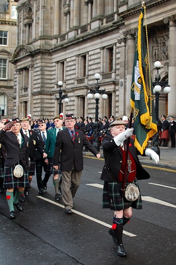
[[[4,144],[7,152],[4,186],[7,188],[10,218],[15,218],[14,206],[17,210],[23,211],[23,207],[19,204],[19,199],[25,187],[30,186],[28,179],[29,138],[20,129],[20,120],[13,118],[0,131],[0,142]],[[19,174],[15,173],[17,165],[21,166]],[[16,188],[15,197],[14,188]]]

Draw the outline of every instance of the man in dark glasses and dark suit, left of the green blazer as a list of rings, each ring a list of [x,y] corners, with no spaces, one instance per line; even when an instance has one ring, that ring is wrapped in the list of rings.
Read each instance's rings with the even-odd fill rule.
[[[47,139],[47,132],[46,132],[46,123],[44,119],[39,119],[38,121],[39,129],[37,130],[37,135],[39,138],[40,143],[42,144],[43,149],[45,150],[46,145],[46,139]],[[47,174],[48,165],[45,163],[45,159],[43,156],[39,153],[39,151],[36,149],[35,153],[35,165],[36,165],[36,177],[37,177],[37,186],[39,189],[39,195],[43,194],[43,184],[42,184],[42,169],[45,172],[45,175]]]

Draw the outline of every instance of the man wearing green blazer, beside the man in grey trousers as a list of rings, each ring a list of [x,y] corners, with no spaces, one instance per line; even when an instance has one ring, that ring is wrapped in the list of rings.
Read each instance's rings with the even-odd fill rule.
[[[43,188],[47,189],[47,182],[51,174],[53,174],[53,184],[55,188],[55,200],[59,201],[59,170],[55,170],[53,168],[53,156],[56,144],[56,137],[60,130],[65,129],[62,127],[63,115],[56,115],[53,118],[53,122],[55,127],[53,129],[47,130],[47,139],[45,145],[45,152],[47,153],[48,157],[45,159],[45,163],[49,165],[47,174],[45,174],[44,179],[42,180]],[[61,185],[61,181],[60,181]],[[60,191],[61,192],[61,191]]]

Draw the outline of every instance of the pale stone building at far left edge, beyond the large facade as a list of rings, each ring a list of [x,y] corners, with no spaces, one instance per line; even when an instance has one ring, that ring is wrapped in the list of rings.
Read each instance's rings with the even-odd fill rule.
[[[0,3],[0,119],[14,114],[14,65],[11,63],[16,48],[17,3]]]

